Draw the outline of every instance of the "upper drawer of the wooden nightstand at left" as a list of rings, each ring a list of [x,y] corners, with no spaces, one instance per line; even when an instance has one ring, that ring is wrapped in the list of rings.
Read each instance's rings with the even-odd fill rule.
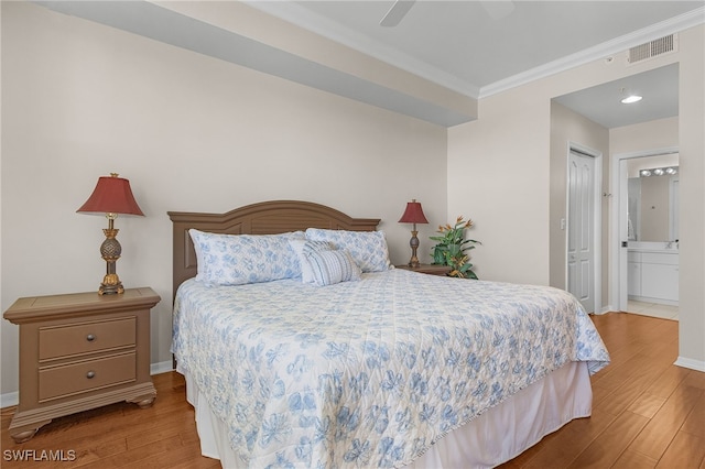
[[[134,347],[135,330],[134,317],[42,327],[40,328],[40,361],[119,347]]]

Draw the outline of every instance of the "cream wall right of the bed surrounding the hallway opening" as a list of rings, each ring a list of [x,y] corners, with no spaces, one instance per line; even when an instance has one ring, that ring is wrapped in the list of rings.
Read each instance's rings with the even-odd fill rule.
[[[677,62],[681,199],[688,200],[680,214],[679,362],[705,369],[704,26],[680,32],[679,47],[633,66],[595,61],[480,100],[477,121],[448,131],[448,212],[476,220],[480,277],[549,284],[551,99]]]

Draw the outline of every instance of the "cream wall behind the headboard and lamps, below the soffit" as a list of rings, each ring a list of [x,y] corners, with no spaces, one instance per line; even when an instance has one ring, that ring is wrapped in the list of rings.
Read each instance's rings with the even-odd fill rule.
[[[120,173],[147,216],[116,221],[118,274],[162,296],[152,363],[171,361],[167,210],[322,203],[381,218],[395,263],[411,255],[406,201],[430,221],[420,254],[446,220],[444,128],[32,3],[2,2],[2,310],[97,290],[107,222],[76,209]],[[2,394],[18,389],[17,332],[2,320]]]

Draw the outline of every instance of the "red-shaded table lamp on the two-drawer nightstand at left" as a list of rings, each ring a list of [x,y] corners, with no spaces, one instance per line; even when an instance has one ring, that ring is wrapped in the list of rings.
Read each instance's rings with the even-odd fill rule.
[[[118,214],[141,215],[142,210],[137,205],[130,182],[122,177],[118,177],[117,173],[110,173],[110,176],[101,176],[98,184],[93,190],[88,200],[78,209],[77,212],[87,214],[105,214],[108,219],[108,228],[102,232],[106,236],[105,241],[100,244],[100,255],[106,261],[106,275],[98,288],[99,295],[111,295],[124,293],[122,282],[116,273],[116,262],[120,259],[122,247],[116,239],[118,229],[115,228],[115,219]]]

